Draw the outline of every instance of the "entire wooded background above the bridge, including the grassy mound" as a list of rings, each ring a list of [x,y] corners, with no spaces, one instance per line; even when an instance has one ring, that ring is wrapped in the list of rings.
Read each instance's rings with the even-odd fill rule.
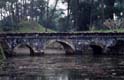
[[[124,0],[52,1],[0,0],[0,31],[124,31]]]

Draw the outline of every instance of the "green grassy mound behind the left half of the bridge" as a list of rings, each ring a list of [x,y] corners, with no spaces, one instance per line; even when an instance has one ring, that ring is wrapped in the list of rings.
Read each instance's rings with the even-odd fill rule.
[[[16,27],[1,26],[0,32],[45,32],[45,27],[34,21],[21,21],[16,25]],[[47,29],[47,32],[55,31],[52,29]]]

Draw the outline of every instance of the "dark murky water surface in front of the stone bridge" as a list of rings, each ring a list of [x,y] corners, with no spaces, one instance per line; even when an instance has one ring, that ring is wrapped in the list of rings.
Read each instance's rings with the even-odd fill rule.
[[[124,56],[11,57],[0,80],[124,80]]]

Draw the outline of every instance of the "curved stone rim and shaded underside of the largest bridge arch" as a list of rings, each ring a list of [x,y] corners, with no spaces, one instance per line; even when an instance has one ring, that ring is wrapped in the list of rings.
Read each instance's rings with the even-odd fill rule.
[[[47,48],[48,45],[52,44],[52,43],[59,43],[63,46],[64,50],[65,50],[65,54],[74,54],[75,52],[75,47],[74,45],[66,40],[50,40],[47,43],[45,43],[44,45],[44,50]]]

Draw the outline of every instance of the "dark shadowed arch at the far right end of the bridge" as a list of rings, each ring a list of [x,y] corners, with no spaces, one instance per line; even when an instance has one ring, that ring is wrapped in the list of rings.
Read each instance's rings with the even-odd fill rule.
[[[111,54],[124,54],[124,40],[117,40],[114,46],[108,48]]]

